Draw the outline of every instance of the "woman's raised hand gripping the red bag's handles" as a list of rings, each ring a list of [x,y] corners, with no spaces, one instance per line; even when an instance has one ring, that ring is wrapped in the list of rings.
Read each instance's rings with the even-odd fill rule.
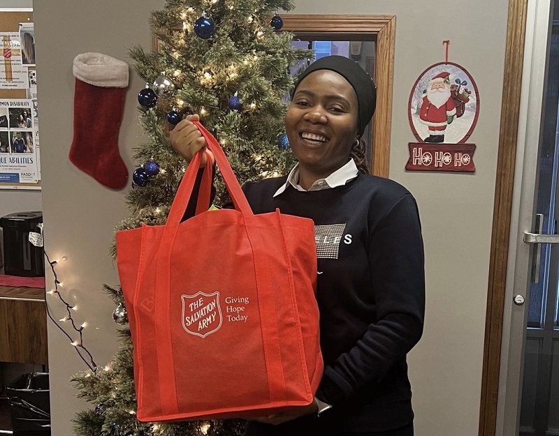
[[[170,132],[170,144],[180,156],[187,160],[187,162],[190,162],[198,151],[203,150],[205,153],[202,153],[202,163],[200,167],[205,167],[208,161],[206,154],[210,155],[211,164],[213,165],[214,156],[212,152],[207,149],[208,142],[205,141],[202,133],[192,121],[200,121],[200,116],[198,116],[198,114],[188,115],[185,119],[180,121]]]

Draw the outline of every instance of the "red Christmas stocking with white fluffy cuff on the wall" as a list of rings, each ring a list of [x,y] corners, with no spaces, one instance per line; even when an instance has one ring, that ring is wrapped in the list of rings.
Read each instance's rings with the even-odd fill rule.
[[[101,53],[74,58],[74,134],[69,158],[107,188],[126,185],[128,170],[118,151],[118,135],[128,64]]]

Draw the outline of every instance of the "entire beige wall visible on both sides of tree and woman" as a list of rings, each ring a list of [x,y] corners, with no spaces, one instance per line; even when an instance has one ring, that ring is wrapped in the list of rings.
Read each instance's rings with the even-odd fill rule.
[[[72,59],[80,52],[97,51],[129,61],[126,47],[150,46],[147,18],[161,4],[51,0],[34,5],[46,248],[52,256],[68,256],[59,275],[79,304],[80,320],[89,322],[85,343],[99,364],[117,347],[113,305],[100,289],[101,283],[117,283],[106,253],[113,226],[126,216],[125,190],[102,188],[68,162]],[[409,357],[416,434],[477,434],[507,1],[296,4],[296,13],[397,15],[391,177],[412,190],[419,202],[428,280],[425,334]],[[481,95],[481,116],[470,137],[477,144],[474,175],[404,171],[407,143],[414,140],[407,122],[409,92],[427,66],[443,60],[444,39],[451,40],[450,60],[469,70]],[[121,153],[130,170],[131,148],[143,140],[135,119],[136,93],[143,83],[132,77],[120,132]],[[59,305],[51,300],[50,307],[56,311]],[[69,420],[80,403],[68,379],[85,366],[52,325],[49,341],[53,435],[71,435]]]

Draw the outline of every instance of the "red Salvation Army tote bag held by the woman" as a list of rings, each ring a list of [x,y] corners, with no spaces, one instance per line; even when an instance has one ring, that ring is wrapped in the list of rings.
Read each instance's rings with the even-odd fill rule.
[[[180,223],[198,153],[166,225],[116,236],[138,420],[250,418],[309,405],[323,370],[314,224],[279,210],[254,215],[219,144],[196,124],[235,209],[208,211],[206,165],[196,215]]]

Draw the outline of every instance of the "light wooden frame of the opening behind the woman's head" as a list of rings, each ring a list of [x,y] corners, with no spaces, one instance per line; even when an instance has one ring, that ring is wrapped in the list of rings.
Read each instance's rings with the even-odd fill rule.
[[[373,116],[371,174],[389,176],[392,84],[394,78],[395,15],[282,14],[283,31],[297,36],[349,35],[374,37],[377,42],[375,84],[377,110]]]

